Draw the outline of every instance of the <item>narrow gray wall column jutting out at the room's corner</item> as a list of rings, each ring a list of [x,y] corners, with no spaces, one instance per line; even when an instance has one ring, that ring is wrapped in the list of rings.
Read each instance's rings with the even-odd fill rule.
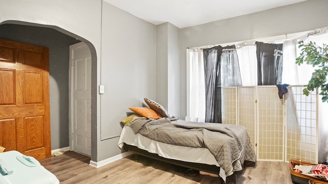
[[[180,114],[180,29],[166,22],[156,26],[156,102],[171,116]]]

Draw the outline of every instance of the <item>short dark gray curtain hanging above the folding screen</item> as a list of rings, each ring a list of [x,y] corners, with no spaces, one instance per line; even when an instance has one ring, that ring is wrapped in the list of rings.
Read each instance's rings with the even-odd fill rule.
[[[257,85],[281,84],[282,43],[256,42]]]

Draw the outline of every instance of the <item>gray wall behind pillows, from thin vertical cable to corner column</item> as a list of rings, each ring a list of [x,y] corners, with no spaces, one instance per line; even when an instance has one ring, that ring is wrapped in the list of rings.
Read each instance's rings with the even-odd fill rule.
[[[104,2],[102,33],[98,160],[121,153],[120,121],[129,107],[156,98],[155,25]]]

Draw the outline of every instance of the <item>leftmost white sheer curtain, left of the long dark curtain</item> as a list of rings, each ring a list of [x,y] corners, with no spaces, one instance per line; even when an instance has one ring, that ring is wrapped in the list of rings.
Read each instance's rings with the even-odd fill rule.
[[[205,79],[202,49],[187,49],[187,67],[190,71],[190,87],[187,91],[189,107],[187,107],[186,120],[205,122]]]

